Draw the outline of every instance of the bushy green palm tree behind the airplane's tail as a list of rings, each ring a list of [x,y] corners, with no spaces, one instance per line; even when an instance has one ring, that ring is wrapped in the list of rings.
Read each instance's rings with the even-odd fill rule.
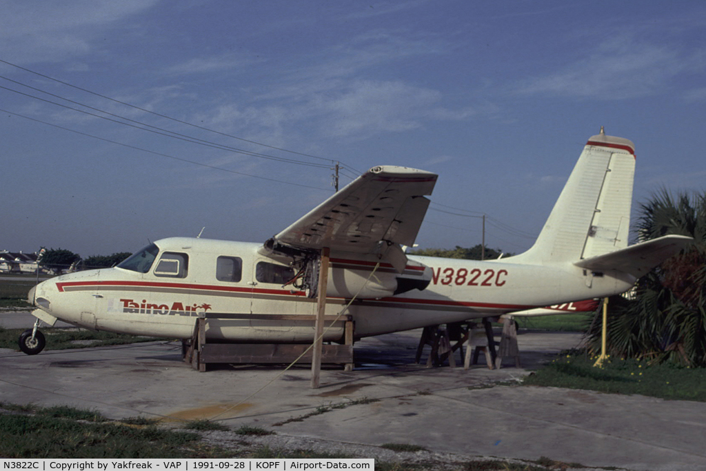
[[[706,194],[662,189],[641,205],[637,232],[640,242],[666,234],[695,242],[640,278],[630,299],[611,298],[609,354],[706,366]],[[589,338],[597,351],[599,323]]]

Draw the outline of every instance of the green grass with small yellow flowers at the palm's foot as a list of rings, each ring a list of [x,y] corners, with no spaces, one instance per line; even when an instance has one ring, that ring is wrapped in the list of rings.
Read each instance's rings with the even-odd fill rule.
[[[525,386],[555,386],[601,393],[640,394],[671,400],[706,401],[706,369],[647,360],[609,358],[602,368],[582,352],[565,352],[527,376]]]

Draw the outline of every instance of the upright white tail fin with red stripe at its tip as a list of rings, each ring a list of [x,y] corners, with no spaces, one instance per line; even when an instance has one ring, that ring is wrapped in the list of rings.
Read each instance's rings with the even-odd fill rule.
[[[628,246],[635,145],[592,136],[534,246],[518,263],[576,262]]]

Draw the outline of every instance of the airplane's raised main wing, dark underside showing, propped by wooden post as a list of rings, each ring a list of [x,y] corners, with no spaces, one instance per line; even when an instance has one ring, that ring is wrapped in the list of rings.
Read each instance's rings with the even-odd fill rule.
[[[404,270],[400,245],[412,246],[438,176],[407,167],[373,167],[297,222],[275,244],[299,249],[380,254]],[[380,244],[383,242],[383,244]]]

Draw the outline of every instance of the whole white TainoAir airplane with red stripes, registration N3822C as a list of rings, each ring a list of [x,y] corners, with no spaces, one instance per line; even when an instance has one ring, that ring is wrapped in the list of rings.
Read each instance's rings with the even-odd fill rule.
[[[114,268],[40,283],[29,295],[37,323],[20,345],[42,350],[40,320],[187,339],[205,311],[209,340],[312,342],[311,322],[282,314],[316,317],[322,251],[330,251],[325,314],[347,309],[354,338],[625,292],[691,241],[628,247],[634,149],[603,130],[592,136],[537,242],[517,256],[408,256],[402,246],[414,244],[437,175],[373,167],[265,244],[162,239]],[[323,340],[343,335],[331,328]]]

